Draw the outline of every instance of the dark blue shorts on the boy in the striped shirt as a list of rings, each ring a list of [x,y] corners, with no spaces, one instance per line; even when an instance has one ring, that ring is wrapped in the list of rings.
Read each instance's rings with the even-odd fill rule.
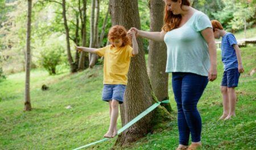
[[[221,86],[228,88],[237,87],[239,77],[240,73],[238,72],[238,68],[232,68],[224,71]]]

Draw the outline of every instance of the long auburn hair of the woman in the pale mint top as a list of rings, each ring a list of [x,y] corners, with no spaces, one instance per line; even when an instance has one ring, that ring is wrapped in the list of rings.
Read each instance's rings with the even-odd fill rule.
[[[178,0],[171,0],[172,2],[177,2]],[[191,3],[189,0],[181,0],[180,8],[182,9],[182,6],[190,6]],[[172,29],[176,29],[179,27],[181,22],[181,15],[174,15],[172,11],[168,11],[168,6],[166,5],[164,7],[164,26],[163,31],[168,32]]]

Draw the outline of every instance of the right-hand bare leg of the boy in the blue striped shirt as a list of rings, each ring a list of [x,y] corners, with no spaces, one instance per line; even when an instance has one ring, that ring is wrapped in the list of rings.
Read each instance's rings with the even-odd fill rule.
[[[231,117],[236,117],[236,102],[237,102],[237,95],[234,88],[228,88],[228,95],[229,95],[229,114],[225,118],[225,120],[230,119]]]

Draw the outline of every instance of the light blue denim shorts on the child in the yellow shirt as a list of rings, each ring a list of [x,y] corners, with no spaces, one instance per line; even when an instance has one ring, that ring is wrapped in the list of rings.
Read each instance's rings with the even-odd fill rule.
[[[104,84],[102,90],[102,100],[117,100],[119,104],[123,103],[126,85],[123,84]]]

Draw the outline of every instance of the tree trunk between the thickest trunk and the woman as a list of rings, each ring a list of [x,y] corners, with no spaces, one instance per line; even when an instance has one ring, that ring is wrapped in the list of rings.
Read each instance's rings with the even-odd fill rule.
[[[150,0],[150,31],[160,32],[163,27],[164,1]],[[168,74],[166,73],[166,44],[164,42],[149,42],[148,76],[155,96],[159,101],[168,100]],[[170,104],[162,104],[171,112]]]

